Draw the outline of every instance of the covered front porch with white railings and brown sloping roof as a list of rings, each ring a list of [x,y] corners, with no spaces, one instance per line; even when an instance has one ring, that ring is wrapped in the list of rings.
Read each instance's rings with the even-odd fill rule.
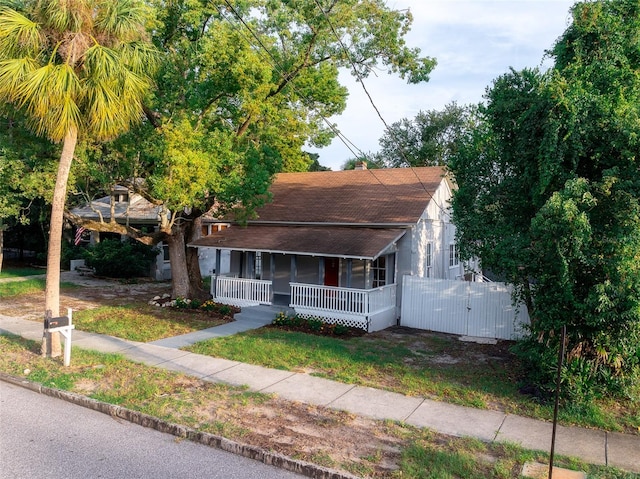
[[[230,235],[232,229],[237,237]],[[286,238],[278,241],[278,234]],[[403,234],[369,228],[230,228],[219,237],[231,246],[230,268],[212,276],[211,294],[239,307],[283,305],[329,323],[368,332],[385,329],[398,318],[396,241]],[[341,252],[345,237],[348,250]],[[276,249],[286,242],[295,248]],[[222,249],[227,248],[216,254]]]

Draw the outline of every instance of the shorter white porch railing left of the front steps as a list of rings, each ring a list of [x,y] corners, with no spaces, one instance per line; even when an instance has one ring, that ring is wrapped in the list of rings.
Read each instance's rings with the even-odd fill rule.
[[[216,301],[235,306],[271,304],[271,281],[260,279],[212,276],[211,295]]]

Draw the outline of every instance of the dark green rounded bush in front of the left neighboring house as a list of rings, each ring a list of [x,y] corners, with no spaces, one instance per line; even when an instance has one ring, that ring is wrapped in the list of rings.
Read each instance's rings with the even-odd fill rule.
[[[104,240],[87,248],[84,259],[97,275],[108,278],[149,276],[158,250],[137,241]]]

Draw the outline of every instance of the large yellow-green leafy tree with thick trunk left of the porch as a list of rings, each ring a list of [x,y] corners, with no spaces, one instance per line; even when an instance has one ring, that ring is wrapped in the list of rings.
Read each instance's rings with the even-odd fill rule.
[[[434,61],[408,48],[409,12],[381,0],[153,2],[154,42],[164,52],[148,122],[111,145],[122,177],[166,215],[154,235],[169,246],[172,295],[203,294],[197,252],[202,215],[250,217],[278,171],[307,171],[307,144],[327,145],[325,118],[345,107],[340,68],[365,77],[377,66],[408,81]],[[124,173],[126,172],[126,173]],[[100,225],[90,225],[100,229]]]

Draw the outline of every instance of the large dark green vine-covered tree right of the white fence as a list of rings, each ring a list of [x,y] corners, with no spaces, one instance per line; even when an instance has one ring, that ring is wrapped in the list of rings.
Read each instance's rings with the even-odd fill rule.
[[[450,163],[461,253],[517,287],[530,334],[517,352],[549,391],[637,397],[640,383],[640,4],[581,2],[550,54],[487,94]]]

